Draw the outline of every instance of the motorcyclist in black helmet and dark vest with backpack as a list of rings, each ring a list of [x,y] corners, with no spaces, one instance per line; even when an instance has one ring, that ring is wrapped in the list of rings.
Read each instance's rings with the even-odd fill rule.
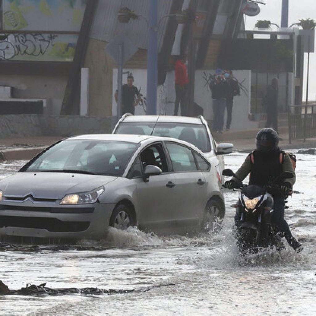
[[[264,128],[260,130],[256,136],[256,149],[250,153],[244,163],[236,172],[237,178],[232,178],[225,182],[225,187],[232,189],[236,183],[249,176],[249,185],[258,185],[264,187],[271,184],[273,179],[283,172],[291,172],[293,178],[287,178],[279,183],[279,193],[272,193],[274,199],[273,222],[278,226],[279,230],[284,233],[284,237],[289,245],[296,251],[303,250],[302,245],[292,236],[288,223],[284,219],[284,196],[288,196],[292,191],[295,183],[295,171],[288,154],[278,147],[279,137],[272,128]],[[281,161],[280,154],[283,159]]]

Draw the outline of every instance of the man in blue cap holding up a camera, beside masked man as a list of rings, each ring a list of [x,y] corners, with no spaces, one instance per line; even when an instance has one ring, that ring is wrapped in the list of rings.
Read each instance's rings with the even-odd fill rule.
[[[222,69],[216,69],[216,77],[210,82],[213,107],[213,131],[222,133],[227,96],[227,82]]]

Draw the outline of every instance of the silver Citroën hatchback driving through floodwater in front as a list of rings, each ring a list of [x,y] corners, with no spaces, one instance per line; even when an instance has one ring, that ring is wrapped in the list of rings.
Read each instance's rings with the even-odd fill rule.
[[[109,226],[209,229],[225,214],[215,167],[167,137],[94,134],[53,144],[0,181],[0,236],[100,239]]]

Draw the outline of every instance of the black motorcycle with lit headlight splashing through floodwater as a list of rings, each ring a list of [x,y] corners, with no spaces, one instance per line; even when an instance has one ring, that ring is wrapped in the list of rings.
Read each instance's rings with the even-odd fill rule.
[[[283,172],[279,177],[264,188],[258,185],[246,185],[238,179],[236,174],[230,170],[223,170],[222,174],[235,177],[235,188],[240,191],[238,202],[232,205],[236,208],[235,236],[241,253],[255,253],[262,248],[284,249],[282,242],[283,233],[273,223],[273,197],[280,194],[280,185],[286,178],[292,178],[290,172]],[[284,199],[287,196],[283,196]],[[285,201],[287,202],[287,201]],[[285,208],[288,208],[285,206]]]

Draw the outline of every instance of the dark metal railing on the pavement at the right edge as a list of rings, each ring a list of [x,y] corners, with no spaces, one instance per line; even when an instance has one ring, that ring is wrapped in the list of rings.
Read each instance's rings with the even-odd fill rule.
[[[316,137],[316,103],[289,106],[289,143]]]

